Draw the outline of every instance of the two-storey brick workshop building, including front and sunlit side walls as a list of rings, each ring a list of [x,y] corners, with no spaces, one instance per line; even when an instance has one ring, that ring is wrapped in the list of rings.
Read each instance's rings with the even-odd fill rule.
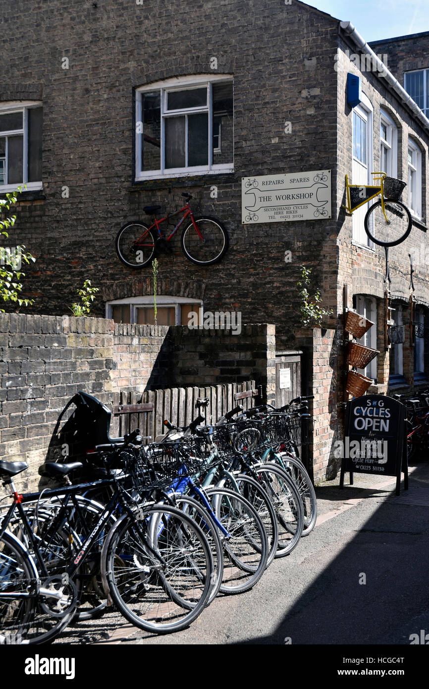
[[[384,249],[369,245],[362,217],[347,217],[342,209],[346,174],[362,184],[381,165],[404,180],[415,175],[414,198],[408,187],[403,195],[404,203],[415,205],[412,232],[390,251],[390,296],[395,318],[406,325],[411,254],[418,307],[413,318],[423,322],[429,306],[429,121],[406,102],[388,70],[390,61],[394,74],[410,69],[409,43],[416,52],[412,64],[420,65],[427,43],[422,39],[416,48],[414,41],[399,41],[397,58],[395,42],[373,45],[388,55],[388,69],[381,72],[353,27],[299,1],[173,6],[156,0],[66,5],[50,0],[28,11],[17,0],[2,14],[7,31],[0,38],[0,123],[2,114],[22,110],[22,132],[10,130],[8,144],[13,150],[22,136],[21,167],[28,163],[28,191],[15,227],[36,257],[25,278],[34,298],[27,310],[67,313],[76,288],[90,278],[100,288],[94,315],[147,322],[150,269],[122,265],[114,238],[129,220],[147,222],[145,205],[174,209],[180,194],[189,192],[197,212],[224,223],[230,246],[221,263],[206,268],[186,260],[178,238],[173,253],[160,256],[158,305],[165,309],[165,325],[186,322],[196,305],[241,311],[243,323],[275,324],[278,349],[304,348],[311,360],[306,382],[316,394],[316,473],[326,475],[332,441],[342,432],[337,405],[344,399],[339,333],[344,306],[355,306],[376,322],[366,341],[380,350],[367,370],[377,391],[410,390],[424,382],[428,370],[429,346],[423,338],[412,341],[409,328],[400,350],[385,342]],[[362,82],[362,102],[354,108],[347,102],[348,73]],[[176,121],[158,113],[169,92],[179,99],[192,92],[198,105],[202,86],[211,96],[198,112]],[[208,158],[201,154],[206,121],[211,123]],[[242,224],[242,177],[316,169],[331,170],[331,218]],[[16,186],[12,167],[10,178]],[[0,192],[6,188],[0,185]],[[287,250],[291,263],[284,260]],[[323,331],[315,336],[316,349],[313,334],[300,327],[301,264],[312,267],[324,307],[333,311],[325,338]]]

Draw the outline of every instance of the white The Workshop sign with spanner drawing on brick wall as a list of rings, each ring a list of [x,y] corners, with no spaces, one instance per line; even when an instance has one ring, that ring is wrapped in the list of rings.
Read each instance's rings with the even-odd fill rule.
[[[331,170],[242,177],[242,223],[331,218]]]

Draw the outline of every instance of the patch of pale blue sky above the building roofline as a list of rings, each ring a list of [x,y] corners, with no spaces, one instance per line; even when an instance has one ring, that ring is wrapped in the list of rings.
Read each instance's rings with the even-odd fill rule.
[[[429,0],[303,0],[342,21],[369,41],[429,31]]]

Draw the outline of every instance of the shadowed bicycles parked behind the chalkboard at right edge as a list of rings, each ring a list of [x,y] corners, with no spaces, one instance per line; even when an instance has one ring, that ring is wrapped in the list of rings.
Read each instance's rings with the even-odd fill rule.
[[[429,388],[415,393],[412,398],[393,395],[406,407],[406,434],[408,461],[426,458],[429,453]]]

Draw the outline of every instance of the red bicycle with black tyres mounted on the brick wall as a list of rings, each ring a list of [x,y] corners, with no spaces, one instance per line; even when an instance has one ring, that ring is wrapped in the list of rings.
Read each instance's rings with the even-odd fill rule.
[[[185,193],[182,196],[187,200],[186,205],[174,213],[167,213],[165,218],[159,220],[155,214],[160,206],[145,206],[145,213],[154,214],[154,224],[150,227],[138,220],[121,227],[116,236],[116,253],[124,265],[129,268],[143,268],[151,263],[157,251],[169,250],[169,241],[186,218],[190,218],[191,222],[183,229],[180,240],[186,258],[197,265],[212,265],[220,261],[228,249],[227,230],[216,218],[194,218],[189,205],[189,199],[193,197]],[[179,213],[182,213],[179,222],[168,236],[164,236],[160,225],[168,223],[171,216]]]

